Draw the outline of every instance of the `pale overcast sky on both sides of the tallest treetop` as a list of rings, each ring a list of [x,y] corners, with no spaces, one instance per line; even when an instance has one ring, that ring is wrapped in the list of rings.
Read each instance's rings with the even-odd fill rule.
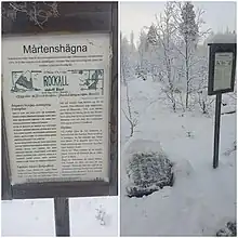
[[[150,26],[155,22],[155,15],[163,12],[166,1],[158,2],[121,2],[120,3],[120,29],[123,35],[130,37],[133,30],[135,43],[143,26]],[[212,28],[214,32],[236,29],[236,2],[235,1],[195,1],[196,8],[204,10],[203,29]]]

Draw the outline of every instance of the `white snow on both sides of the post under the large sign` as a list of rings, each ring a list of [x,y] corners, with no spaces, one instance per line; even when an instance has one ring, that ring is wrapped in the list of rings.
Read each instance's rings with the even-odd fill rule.
[[[71,236],[117,236],[118,198],[69,199]],[[2,236],[55,236],[52,199],[2,201]]]

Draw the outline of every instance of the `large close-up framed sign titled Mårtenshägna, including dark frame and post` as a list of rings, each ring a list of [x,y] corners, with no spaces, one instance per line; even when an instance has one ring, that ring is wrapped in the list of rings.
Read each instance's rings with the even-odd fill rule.
[[[43,28],[19,14],[2,29],[2,199],[55,209],[118,194],[117,2],[58,5]]]

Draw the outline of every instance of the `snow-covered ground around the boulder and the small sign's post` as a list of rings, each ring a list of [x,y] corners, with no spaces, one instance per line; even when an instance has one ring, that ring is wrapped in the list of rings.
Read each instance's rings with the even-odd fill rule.
[[[159,84],[151,81],[135,79],[129,89],[138,124],[129,138],[129,123],[121,113],[121,235],[215,235],[236,219],[236,154],[224,155],[236,140],[236,114],[222,116],[220,167],[214,170],[214,116],[172,113],[159,100]],[[123,85],[121,98],[125,109]],[[143,198],[125,196],[127,148],[132,142],[136,147],[136,140],[160,142],[178,168],[173,187]]]

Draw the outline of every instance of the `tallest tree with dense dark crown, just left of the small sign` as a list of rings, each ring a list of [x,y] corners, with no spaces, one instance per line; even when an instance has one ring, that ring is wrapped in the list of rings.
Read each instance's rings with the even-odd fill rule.
[[[184,66],[181,71],[185,78],[185,107],[189,108],[189,97],[194,96],[201,90],[199,85],[207,80],[202,76],[206,67],[204,57],[198,53],[198,43],[208,36],[210,29],[201,30],[204,24],[202,15],[204,11],[197,9],[190,2],[176,2],[174,11],[174,23],[177,28],[176,45]],[[202,81],[202,82],[201,82]]]

